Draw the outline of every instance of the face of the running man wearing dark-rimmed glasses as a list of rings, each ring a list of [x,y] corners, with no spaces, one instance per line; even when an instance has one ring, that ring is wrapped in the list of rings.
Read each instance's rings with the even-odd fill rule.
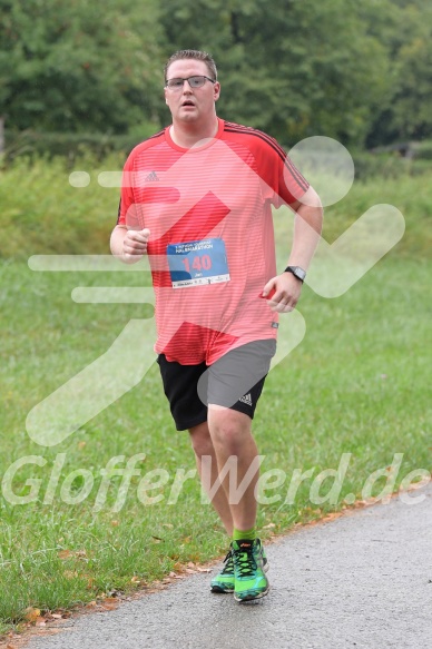
[[[204,61],[181,59],[174,61],[167,70],[167,79],[205,76],[212,78]],[[180,90],[165,88],[165,101],[171,111],[173,121],[205,122],[215,115],[215,101],[219,98],[218,82],[206,81],[200,88],[190,88],[186,81]]]

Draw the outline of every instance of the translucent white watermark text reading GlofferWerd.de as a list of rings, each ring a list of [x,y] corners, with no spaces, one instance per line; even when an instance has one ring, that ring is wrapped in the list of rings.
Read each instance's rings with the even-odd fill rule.
[[[425,499],[424,493],[415,494],[413,489],[428,484],[431,481],[431,473],[425,469],[415,469],[401,476],[403,453],[394,453],[390,465],[376,469],[367,475],[359,494],[347,493],[342,496],[351,458],[351,453],[343,453],[337,468],[321,471],[316,466],[307,470],[296,468],[291,473],[281,468],[267,469],[262,472],[255,484],[255,499],[264,505],[277,503],[278,509],[295,504],[297,498],[302,503],[306,500],[316,507],[325,503],[353,504],[356,500],[387,504],[399,478],[401,478],[399,499],[403,503],[416,504]],[[197,480],[195,468],[181,466],[176,469],[174,474],[166,469],[155,468],[141,474],[145,453],[136,453],[129,459],[116,455],[101,469],[95,471],[75,469],[62,478],[66,459],[66,453],[58,453],[50,465],[41,455],[20,458],[4,472],[1,483],[3,499],[13,505],[37,501],[52,504],[55,499],[76,505],[92,499],[94,512],[99,512],[104,508],[119,512],[125,507],[127,498],[130,498],[130,493],[145,507],[163,503],[175,505],[181,496],[185,483],[188,480]],[[202,504],[209,504],[219,489],[227,489],[228,503],[237,504],[254,483],[257,472],[265,462],[265,455],[257,455],[240,482],[237,462],[237,456],[228,458],[216,481],[212,482],[212,458],[203,458]],[[28,471],[30,466],[35,476],[27,478],[22,485],[20,471]],[[45,470],[43,476],[41,469]],[[306,499],[304,493],[298,496],[298,490],[305,485],[308,488]]]

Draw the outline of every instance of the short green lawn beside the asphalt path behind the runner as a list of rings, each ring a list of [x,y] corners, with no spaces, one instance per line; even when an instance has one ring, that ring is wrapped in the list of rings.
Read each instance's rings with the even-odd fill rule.
[[[29,239],[26,230],[16,226],[10,229],[13,219],[7,216],[8,209],[2,217],[3,242],[11,242],[11,233],[18,233],[10,245],[20,254],[16,260],[6,258],[0,266],[0,474],[30,455],[46,464],[24,464],[13,478],[18,496],[35,490],[32,502],[12,504],[4,486],[0,494],[0,632],[19,626],[29,606],[70,609],[101,593],[128,592],[160,580],[179,564],[222,554],[227,544],[216,514],[200,501],[197,479],[187,480],[177,502],[168,503],[176,472],[193,471],[195,463],[187,433],[174,430],[156,366],[139,385],[59,445],[43,448],[29,439],[28,412],[100,356],[129,319],[149,316],[145,305],[76,304],[70,297],[76,286],[138,286],[143,282],[138,274],[35,273],[19,258],[47,250],[106,252],[112,226],[112,214],[108,216],[109,205],[115,210],[112,193],[100,195],[100,229],[94,230],[97,193],[86,199],[84,194],[73,198],[75,189],[70,199],[76,201],[73,209],[82,223],[78,219],[78,229],[73,224],[65,226],[67,237],[62,238],[56,222],[61,210],[57,210],[57,217],[55,210],[61,183],[52,180],[51,196],[36,176],[33,181],[35,188],[39,187],[35,195],[41,201],[46,194],[47,203],[39,212],[29,208]],[[298,305],[306,321],[305,338],[269,374],[254,422],[258,448],[265,455],[262,471],[277,469],[279,475],[282,471],[286,474],[283,484],[266,492],[278,499],[259,508],[263,538],[341,509],[350,493],[362,498],[367,476],[387,468],[395,453],[403,454],[395,489],[410,471],[432,468],[431,303],[426,297],[432,265],[423,255],[431,239],[431,203],[415,184],[410,198],[404,181],[393,188],[375,183],[354,190],[345,213],[342,205],[327,210],[328,239],[343,232],[354,215],[360,216],[377,201],[393,203],[405,214],[406,234],[345,295],[324,299],[305,286]],[[8,200],[10,208],[12,200]],[[22,197],[17,207],[21,215],[26,200]],[[35,214],[41,219],[39,233]],[[63,223],[61,218],[59,223]],[[89,238],[88,228],[92,233]],[[281,242],[285,228],[279,223],[277,228]],[[84,250],[79,238],[85,242]],[[285,316],[286,324],[288,318]],[[112,474],[106,503],[95,511],[100,470],[116,455],[128,460],[137,453],[145,459],[137,464],[140,475],[132,478],[124,507],[112,511],[121,483],[121,476]],[[312,502],[313,480],[322,470],[337,469],[343,453],[351,456],[337,502]],[[60,454],[65,462],[52,502],[43,503]],[[314,471],[297,490],[294,502],[285,503],[295,469]],[[76,470],[80,474],[72,481]],[[167,473],[153,474],[153,481],[165,475],[167,482],[148,495],[163,499],[143,504],[138,483],[155,470]],[[84,476],[82,471],[87,471]],[[88,496],[77,504],[65,502],[65,494],[69,499],[79,496],[90,474],[94,484]],[[40,482],[31,486],[26,484],[28,480]],[[373,493],[383,485],[382,479]],[[53,486],[51,483],[51,491]],[[320,493],[324,495],[330,486],[328,479]],[[268,528],[269,523],[275,527]],[[134,584],[132,577],[141,584]]]

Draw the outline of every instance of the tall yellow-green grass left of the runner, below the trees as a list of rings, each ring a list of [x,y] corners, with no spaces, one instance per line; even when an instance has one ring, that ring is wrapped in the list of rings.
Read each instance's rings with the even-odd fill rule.
[[[101,167],[91,154],[71,166],[67,158],[17,157],[0,171],[0,257],[32,254],[109,254],[119,189],[98,184],[102,170],[121,170],[124,154],[112,154]],[[87,187],[69,183],[72,170],[89,174]]]

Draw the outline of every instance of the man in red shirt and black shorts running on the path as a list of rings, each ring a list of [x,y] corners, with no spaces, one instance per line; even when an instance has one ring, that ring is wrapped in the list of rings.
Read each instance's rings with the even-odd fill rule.
[[[219,95],[208,53],[169,58],[165,101],[173,122],[126,161],[111,252],[125,263],[149,256],[164,390],[177,430],[189,432],[207,492],[235,462],[235,489],[226,475],[212,499],[230,545],[210,589],[244,602],[269,589],[255,529],[252,420],[278,314],[297,304],[323,214],[276,140],[216,115]],[[287,267],[277,274],[272,206],[281,205],[295,213],[295,226]]]

